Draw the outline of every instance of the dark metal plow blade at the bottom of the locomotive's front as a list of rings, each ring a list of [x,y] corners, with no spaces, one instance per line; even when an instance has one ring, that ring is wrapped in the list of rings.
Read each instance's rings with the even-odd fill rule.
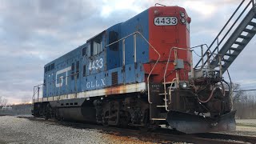
[[[171,128],[186,134],[235,130],[235,112],[236,110],[231,111],[218,118],[204,118],[200,115],[170,110],[166,121]]]

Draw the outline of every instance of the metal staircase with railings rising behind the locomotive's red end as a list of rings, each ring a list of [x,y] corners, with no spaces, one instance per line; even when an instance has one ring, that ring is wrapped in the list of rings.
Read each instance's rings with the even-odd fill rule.
[[[211,60],[210,66],[217,68],[217,75],[222,76],[254,37],[256,34],[255,0],[246,2],[248,0],[242,0],[234,14],[231,15],[225,26],[202,55],[202,58],[195,65],[195,68],[199,67],[200,63],[206,65],[203,59],[208,57]],[[239,13],[238,11],[242,12]]]

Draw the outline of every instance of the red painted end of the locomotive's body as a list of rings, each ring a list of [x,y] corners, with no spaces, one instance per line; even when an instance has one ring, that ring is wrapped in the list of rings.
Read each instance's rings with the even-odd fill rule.
[[[162,82],[170,48],[175,46],[190,49],[190,31],[187,30],[186,24],[181,22],[181,12],[186,14],[186,10],[179,6],[154,6],[149,9],[149,42],[161,55],[160,62],[152,73],[157,74],[153,77],[154,82]],[[166,16],[178,18],[178,24],[175,26],[154,25],[154,18]],[[187,21],[189,18],[187,14],[185,18]],[[154,50],[150,48],[149,50],[150,63],[144,65],[146,74],[150,73],[154,62],[158,59],[158,55],[155,54]],[[183,70],[178,70],[181,80],[188,80],[188,72],[190,71],[190,53],[188,50],[178,50],[178,58],[183,59],[185,64]],[[172,50],[170,56],[170,66],[168,66],[167,74],[169,74],[166,77],[167,82],[171,82],[176,77],[174,73],[174,50]]]

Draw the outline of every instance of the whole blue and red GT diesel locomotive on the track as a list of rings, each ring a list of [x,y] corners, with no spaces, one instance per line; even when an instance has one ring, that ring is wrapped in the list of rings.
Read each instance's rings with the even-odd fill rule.
[[[47,63],[34,86],[34,117],[234,130],[227,82],[208,65],[193,66],[190,22],[182,7],[153,6]]]

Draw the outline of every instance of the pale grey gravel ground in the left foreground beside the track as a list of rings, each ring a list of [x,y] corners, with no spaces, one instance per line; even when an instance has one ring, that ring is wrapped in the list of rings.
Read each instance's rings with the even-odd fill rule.
[[[138,138],[103,134],[100,130],[76,129],[14,116],[0,117],[2,143],[152,143]]]

